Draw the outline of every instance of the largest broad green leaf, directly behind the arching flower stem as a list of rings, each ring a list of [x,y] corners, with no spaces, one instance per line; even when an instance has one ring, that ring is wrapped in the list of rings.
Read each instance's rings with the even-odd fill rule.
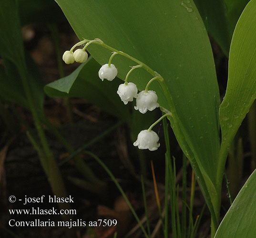
[[[167,90],[163,91],[157,82],[150,89],[156,91],[160,106],[172,108],[175,136],[192,164],[200,168],[197,171],[203,173],[215,196],[213,184],[219,151],[216,106],[220,99],[210,42],[194,2],[56,1],[81,40],[100,38],[164,77]],[[106,63],[111,55],[98,45],[91,44],[88,50],[100,64]],[[129,65],[135,65],[122,56],[115,56],[113,63],[121,79]],[[145,70],[137,69],[129,81],[143,90],[151,78]],[[199,174],[198,177],[202,178]]]

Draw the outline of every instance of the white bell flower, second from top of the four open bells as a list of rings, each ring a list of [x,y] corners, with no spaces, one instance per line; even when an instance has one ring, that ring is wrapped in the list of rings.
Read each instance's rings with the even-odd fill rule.
[[[132,102],[133,98],[137,98],[138,89],[136,84],[128,83],[128,84],[120,84],[117,90],[117,94],[126,105],[128,102]]]

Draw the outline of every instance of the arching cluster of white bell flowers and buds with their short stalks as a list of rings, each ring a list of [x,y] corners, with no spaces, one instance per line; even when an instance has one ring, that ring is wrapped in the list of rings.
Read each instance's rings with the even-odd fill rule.
[[[76,46],[80,46],[84,43],[86,43],[86,44],[83,47],[83,49],[78,49],[73,52],[73,49]],[[66,64],[72,64],[72,63],[74,63],[74,61],[79,62],[79,63],[85,62],[88,58],[88,54],[85,50],[86,50],[87,46],[90,45],[91,43],[100,44],[100,45],[108,48],[108,46],[105,45],[103,43],[103,41],[100,39],[82,40],[82,41],[78,42],[77,44],[75,44],[71,50],[65,51],[62,59],[65,61]],[[111,49],[113,49],[113,48],[111,48]],[[125,56],[127,58],[130,57],[127,54],[124,54],[122,51],[116,50],[115,52],[113,52],[112,56],[109,59],[109,62],[102,65],[101,69],[99,70],[99,77],[100,77],[100,79],[102,79],[102,81],[104,79],[112,81],[117,76],[118,71],[117,71],[116,67],[111,63],[113,57],[117,54],[122,54],[123,56]],[[133,61],[138,61],[138,60],[133,60]],[[123,103],[125,105],[128,102],[133,101],[133,99],[135,98],[136,106],[134,107],[134,109],[139,110],[143,114],[146,113],[147,110],[152,111],[155,108],[159,107],[159,104],[157,103],[158,97],[157,97],[155,91],[148,90],[148,88],[149,88],[149,85],[155,79],[163,80],[163,78],[155,72],[155,75],[154,75],[155,77],[148,82],[148,84],[145,87],[145,90],[141,91],[138,94],[138,89],[137,89],[136,84],[134,84],[132,82],[128,82],[128,77],[134,69],[136,69],[136,68],[146,69],[145,67],[147,67],[147,66],[144,65],[143,63],[133,66],[132,69],[130,69],[130,71],[127,73],[124,83],[120,84],[118,87],[118,90],[117,90],[117,94],[119,95],[120,99],[123,101]],[[160,119],[158,119],[149,129],[142,130],[139,133],[138,138],[133,143],[133,145],[138,146],[139,149],[149,149],[151,151],[158,149],[158,147],[160,146],[160,143],[158,142],[159,137],[152,130],[152,128],[154,127],[154,125],[156,123],[158,123],[161,119],[163,119],[167,115],[171,115],[171,114],[165,114]]]

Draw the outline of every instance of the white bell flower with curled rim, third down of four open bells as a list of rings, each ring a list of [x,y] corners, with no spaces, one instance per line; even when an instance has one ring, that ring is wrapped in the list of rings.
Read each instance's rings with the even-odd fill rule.
[[[152,90],[147,92],[143,90],[138,94],[134,108],[144,114],[147,110],[153,111],[158,107],[159,104],[157,103],[156,93]]]

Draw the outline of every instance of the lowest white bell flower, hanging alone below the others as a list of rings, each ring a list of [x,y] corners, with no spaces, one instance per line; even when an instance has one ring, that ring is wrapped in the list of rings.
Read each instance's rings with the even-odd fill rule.
[[[154,151],[160,146],[158,141],[159,137],[153,130],[142,130],[133,145],[138,146],[139,149],[149,149]]]

